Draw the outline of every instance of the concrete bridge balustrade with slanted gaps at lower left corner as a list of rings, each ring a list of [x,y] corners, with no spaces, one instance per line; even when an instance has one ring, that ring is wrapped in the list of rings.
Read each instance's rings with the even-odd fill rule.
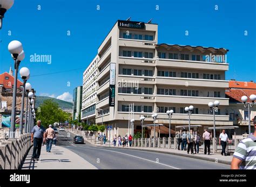
[[[0,142],[0,169],[19,169],[32,146],[30,139],[30,133],[15,139],[2,139]]]

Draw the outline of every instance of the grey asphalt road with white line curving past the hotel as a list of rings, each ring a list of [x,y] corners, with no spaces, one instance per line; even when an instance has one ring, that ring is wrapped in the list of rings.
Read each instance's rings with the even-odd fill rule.
[[[89,142],[73,144],[74,135],[60,131],[57,145],[63,146],[98,169],[230,169],[230,165],[149,151],[95,147]]]

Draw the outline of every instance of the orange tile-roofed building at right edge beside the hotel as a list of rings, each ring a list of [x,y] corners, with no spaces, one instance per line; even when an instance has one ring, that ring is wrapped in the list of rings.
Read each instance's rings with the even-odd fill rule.
[[[253,81],[243,82],[231,80],[226,89],[226,97],[230,99],[230,105],[226,107],[225,113],[230,116],[230,121],[234,126],[239,126],[236,130],[237,134],[248,134],[248,107],[244,106],[241,97],[246,95],[256,95],[256,84]],[[252,102],[249,99],[247,102]],[[253,118],[256,116],[256,105],[250,108],[251,131],[253,131]]]

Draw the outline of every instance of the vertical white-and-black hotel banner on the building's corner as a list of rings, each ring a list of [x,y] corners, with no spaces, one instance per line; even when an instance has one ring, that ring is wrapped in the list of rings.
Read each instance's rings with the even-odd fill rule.
[[[116,98],[116,64],[110,63],[109,106],[114,107]]]

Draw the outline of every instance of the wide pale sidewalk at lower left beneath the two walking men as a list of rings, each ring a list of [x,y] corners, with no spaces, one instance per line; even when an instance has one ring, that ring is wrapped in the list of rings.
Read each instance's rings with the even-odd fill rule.
[[[51,153],[46,152],[46,145],[42,146],[39,161],[32,160],[33,147],[26,156],[22,169],[97,169],[72,151],[52,146]]]

